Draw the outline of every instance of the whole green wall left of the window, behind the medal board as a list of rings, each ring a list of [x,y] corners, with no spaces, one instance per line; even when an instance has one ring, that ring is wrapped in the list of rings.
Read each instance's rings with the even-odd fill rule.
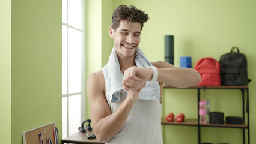
[[[56,122],[61,137],[61,1],[0,1],[0,137]]]

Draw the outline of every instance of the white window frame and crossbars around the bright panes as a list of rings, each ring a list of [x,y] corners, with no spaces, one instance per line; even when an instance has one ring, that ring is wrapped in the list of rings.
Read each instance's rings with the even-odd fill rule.
[[[72,0],[67,0],[67,3],[68,1],[72,1]],[[62,1],[63,2],[63,1]],[[69,134],[69,97],[70,96],[73,96],[73,95],[81,95],[81,124],[82,122],[86,119],[86,50],[85,50],[85,4],[86,4],[86,1],[85,0],[81,0],[81,17],[82,17],[82,29],[78,29],[78,28],[75,28],[73,26],[70,26],[69,23],[68,23],[68,20],[69,20],[69,16],[67,16],[67,23],[63,23],[62,22],[62,25],[64,26],[67,26],[67,28],[72,28],[72,29],[76,29],[77,31],[81,31],[82,32],[82,59],[81,59],[81,92],[76,92],[76,93],[69,93],[69,79],[68,79],[68,68],[69,68],[69,65],[67,65],[67,94],[62,94],[62,98],[64,97],[67,97],[67,125],[66,125],[66,130],[67,130],[67,136],[70,136]],[[67,4],[68,5],[68,4]],[[69,8],[67,8],[67,11],[69,11]],[[67,31],[67,35],[69,35],[69,32]],[[68,36],[67,36],[68,38]],[[67,49],[69,49],[69,45],[68,45],[68,40],[66,41],[67,43]],[[67,53],[67,59],[69,59],[69,53]],[[63,121],[63,120],[62,120]],[[62,127],[64,127],[64,125],[62,125]],[[63,130],[64,128],[62,128]],[[66,136],[64,136],[66,137]],[[62,136],[62,138],[64,138]]]

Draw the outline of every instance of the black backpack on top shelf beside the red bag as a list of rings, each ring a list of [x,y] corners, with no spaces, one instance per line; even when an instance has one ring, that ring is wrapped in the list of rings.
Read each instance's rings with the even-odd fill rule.
[[[237,49],[237,53],[232,52]],[[231,52],[224,54],[219,59],[221,65],[221,85],[248,85],[247,61],[238,47],[232,47]]]

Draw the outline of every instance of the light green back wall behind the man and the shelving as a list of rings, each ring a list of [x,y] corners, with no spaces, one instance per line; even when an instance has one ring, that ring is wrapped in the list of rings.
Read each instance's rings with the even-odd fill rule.
[[[219,60],[222,54],[230,52],[231,47],[240,47],[248,59],[249,78],[254,80],[256,70],[256,1],[135,1],[114,0],[111,7],[102,5],[102,10],[111,10],[121,4],[135,5],[149,14],[150,20],[145,23],[141,34],[140,47],[150,61],[164,60],[164,36],[174,35],[174,64],[179,67],[180,56],[192,56],[192,67],[198,59],[210,56]],[[103,3],[103,2],[102,2]],[[102,12],[102,13],[103,13]],[[108,12],[110,13],[110,12]],[[109,14],[102,14],[102,19],[111,19]],[[108,28],[108,22],[102,22],[100,28]],[[104,26],[105,25],[105,26]],[[89,27],[88,27],[89,28]],[[90,27],[93,28],[93,27]],[[110,51],[104,52],[106,41],[111,41],[106,30],[102,29],[102,64],[106,64]],[[88,37],[88,36],[87,36]],[[99,38],[98,38],[99,39]],[[87,39],[88,40],[88,39]],[[105,41],[106,40],[106,41]],[[91,43],[91,41],[88,41]],[[111,44],[108,45],[112,48]],[[108,49],[108,50],[111,50]],[[90,49],[90,47],[87,47]],[[107,54],[106,54],[107,53]],[[100,55],[100,54],[99,54]],[[88,61],[94,64],[94,61]],[[103,67],[103,65],[101,65]],[[95,68],[95,67],[94,67]],[[87,69],[90,70],[90,69]],[[99,70],[99,68],[97,69]],[[95,70],[96,71],[96,70]],[[249,83],[249,109],[251,143],[256,143],[253,134],[256,132],[255,106],[256,93],[254,81]],[[193,89],[165,89],[162,116],[169,112],[175,115],[184,113],[186,118],[197,118],[197,91]],[[242,116],[242,98],[239,90],[207,90],[201,92],[202,99],[212,100],[211,110],[221,111],[225,116]],[[197,143],[196,127],[162,127],[164,143]],[[184,139],[184,137],[186,139]],[[236,139],[234,139],[236,137]],[[242,130],[234,128],[203,128],[201,142],[242,143]]]

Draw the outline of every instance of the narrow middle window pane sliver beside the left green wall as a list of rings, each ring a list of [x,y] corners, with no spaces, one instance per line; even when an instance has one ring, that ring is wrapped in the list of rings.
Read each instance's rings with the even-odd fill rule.
[[[67,26],[62,25],[62,94],[67,94]]]

